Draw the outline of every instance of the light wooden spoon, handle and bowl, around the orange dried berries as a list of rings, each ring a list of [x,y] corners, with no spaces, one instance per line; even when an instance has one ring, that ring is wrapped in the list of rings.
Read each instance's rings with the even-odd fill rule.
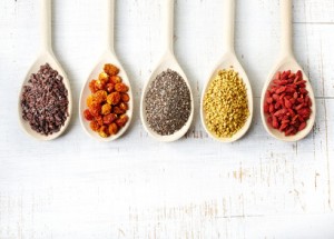
[[[114,22],[115,22],[115,0],[106,0],[106,50],[98,60],[98,63],[96,67],[92,69],[91,73],[87,78],[86,83],[82,87],[81,94],[80,94],[80,101],[79,101],[79,116],[80,116],[80,121],[84,130],[88,133],[94,139],[97,139],[99,141],[108,142],[116,140],[119,138],[121,135],[126,132],[128,129],[130,121],[132,119],[132,111],[134,111],[134,96],[132,96],[132,90],[131,90],[131,84],[129,81],[129,78],[127,77],[126,71],[124,70],[122,66],[120,64],[116,52],[114,48]],[[94,79],[97,79],[99,73],[104,71],[104,67],[106,63],[112,63],[117,68],[119,68],[119,74],[122,79],[122,82],[126,83],[129,87],[129,91],[127,92],[130,97],[130,100],[128,102],[129,109],[127,110],[126,114],[128,116],[128,122],[126,123],[125,127],[122,127],[117,135],[110,136],[108,138],[102,138],[99,136],[99,133],[92,131],[90,129],[90,121],[86,120],[84,117],[84,111],[87,109],[86,100],[88,96],[91,94],[91,91],[89,89],[89,82]]]

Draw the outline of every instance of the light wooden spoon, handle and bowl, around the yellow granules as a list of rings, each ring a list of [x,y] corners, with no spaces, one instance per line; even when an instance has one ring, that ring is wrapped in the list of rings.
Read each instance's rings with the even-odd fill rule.
[[[235,21],[235,0],[224,0],[224,49],[225,53],[223,54],[223,58],[218,61],[217,66],[215,67],[215,70],[210,74],[209,79],[207,80],[206,84],[204,86],[204,90],[202,93],[202,100],[200,100],[200,118],[202,123],[206,130],[206,132],[215,140],[222,141],[222,142],[234,142],[238,139],[240,139],[249,129],[249,126],[252,123],[253,118],[253,93],[252,93],[252,87],[248,80],[248,77],[243,69],[242,64],[239,63],[235,49],[234,49],[234,21]],[[246,86],[247,90],[247,100],[248,100],[248,110],[249,116],[243,126],[233,137],[230,138],[219,138],[215,133],[213,133],[206,125],[205,120],[205,110],[204,110],[204,98],[205,93],[207,92],[212,81],[215,79],[215,77],[218,74],[218,72],[223,69],[233,69],[234,71],[238,72],[239,77],[243,79],[243,82]]]

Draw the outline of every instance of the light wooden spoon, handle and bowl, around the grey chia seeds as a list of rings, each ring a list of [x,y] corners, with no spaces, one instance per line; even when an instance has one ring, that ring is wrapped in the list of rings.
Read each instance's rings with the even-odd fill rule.
[[[180,68],[179,63],[177,62],[175,56],[174,56],[174,0],[163,0],[163,46],[161,48],[164,49],[164,54],[159,62],[157,63],[157,67],[153,71],[150,78],[144,86],[143,94],[141,94],[141,100],[140,100],[140,118],[143,126],[145,130],[148,132],[148,135],[156,140],[159,141],[165,141],[165,142],[170,142],[178,140],[181,138],[189,129],[193,118],[194,118],[194,98],[193,98],[193,92],[190,89],[190,84],[187,80],[186,74],[184,73],[183,69]],[[184,81],[186,82],[189,92],[190,92],[190,101],[191,101],[191,109],[190,109],[190,114],[185,123],[185,126],[179,129],[178,131],[174,132],[173,135],[169,136],[160,136],[157,132],[155,132],[148,125],[147,122],[147,117],[146,117],[146,103],[145,103],[145,97],[146,93],[150,87],[150,83],[156,79],[156,77],[161,73],[163,71],[171,69],[176,72],[179,73],[180,77],[183,77]]]

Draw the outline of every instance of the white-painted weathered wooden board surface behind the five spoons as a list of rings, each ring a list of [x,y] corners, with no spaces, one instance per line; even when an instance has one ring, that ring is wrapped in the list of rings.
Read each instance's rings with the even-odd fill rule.
[[[38,142],[20,129],[18,92],[39,49],[38,0],[0,1],[0,238],[334,238],[334,1],[294,0],[294,43],[318,108],[310,136],[264,130],[259,94],[279,51],[279,1],[237,0],[236,52],[255,94],[242,140],[208,138],[199,93],[223,49],[222,0],[177,0],[175,52],[191,81],[194,126],[159,143],[139,120],[158,60],[161,0],[118,0],[116,51],[135,87],[135,119],[110,143],[88,138],[80,88],[102,51],[102,0],[53,0],[53,49],[75,113],[67,133]]]

